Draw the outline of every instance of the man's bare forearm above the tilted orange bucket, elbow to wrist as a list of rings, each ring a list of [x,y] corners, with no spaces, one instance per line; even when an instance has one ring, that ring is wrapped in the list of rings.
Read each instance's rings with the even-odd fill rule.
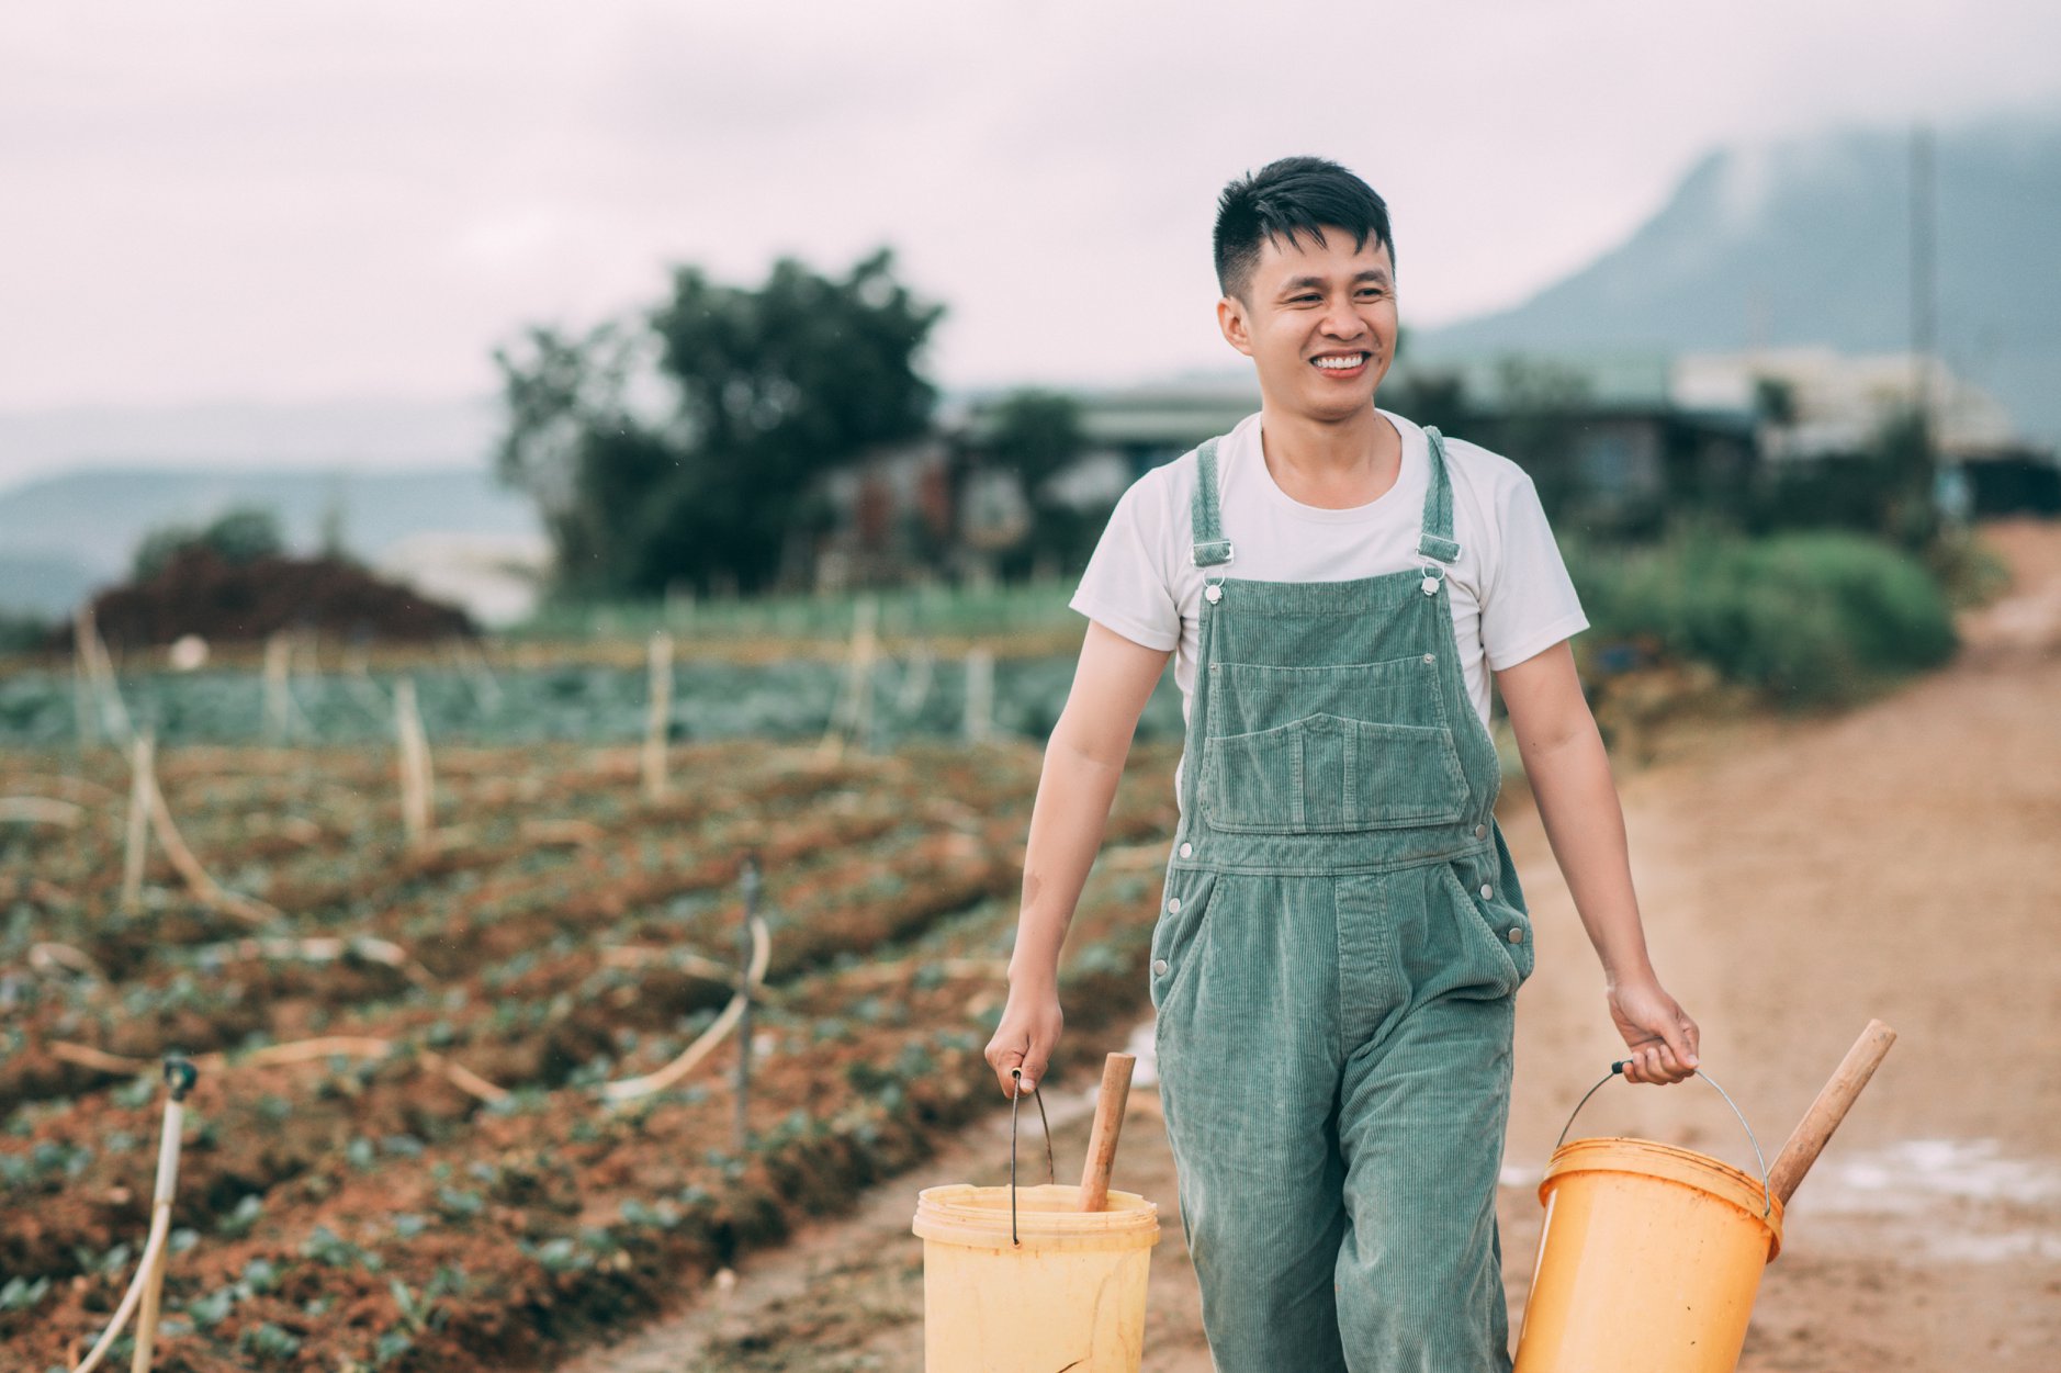
[[[1583,728],[1521,752],[1546,839],[1603,961],[1603,977],[1612,983],[1653,977],[1632,893],[1624,808],[1595,722],[1583,713]]]

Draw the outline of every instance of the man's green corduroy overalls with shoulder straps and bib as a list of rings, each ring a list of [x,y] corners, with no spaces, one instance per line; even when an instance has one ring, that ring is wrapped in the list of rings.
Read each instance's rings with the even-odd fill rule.
[[[1206,571],[1152,932],[1181,1216],[1222,1373],[1509,1373],[1496,1177],[1531,919],[1445,571]],[[1193,559],[1232,563],[1216,439]]]

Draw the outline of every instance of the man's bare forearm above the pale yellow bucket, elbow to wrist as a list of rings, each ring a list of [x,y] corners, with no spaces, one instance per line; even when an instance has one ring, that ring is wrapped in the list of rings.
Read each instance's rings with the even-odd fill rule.
[[[1010,955],[1012,983],[1057,977],[1059,948],[1103,845],[1109,804],[1121,777],[1121,759],[1096,759],[1068,746],[1059,734],[1045,746],[1024,843],[1022,913],[1016,919],[1016,950]]]

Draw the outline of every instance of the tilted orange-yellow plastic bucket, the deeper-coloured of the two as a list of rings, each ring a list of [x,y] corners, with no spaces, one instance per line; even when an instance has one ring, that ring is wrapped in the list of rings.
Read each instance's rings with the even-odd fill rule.
[[[1733,1373],[1783,1247],[1766,1171],[1655,1140],[1573,1140],[1554,1148],[1540,1202],[1517,1373]]]

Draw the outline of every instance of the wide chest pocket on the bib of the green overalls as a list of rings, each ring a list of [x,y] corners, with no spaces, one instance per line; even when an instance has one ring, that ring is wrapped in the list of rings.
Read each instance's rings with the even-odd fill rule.
[[[1212,664],[1210,686],[1197,790],[1214,829],[1340,833],[1449,825],[1465,812],[1432,664]]]

